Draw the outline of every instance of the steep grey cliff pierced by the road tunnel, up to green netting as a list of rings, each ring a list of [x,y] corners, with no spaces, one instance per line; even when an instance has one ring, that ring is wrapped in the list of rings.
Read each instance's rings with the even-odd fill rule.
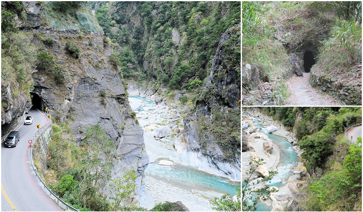
[[[37,49],[35,55],[39,52],[51,55],[58,72],[41,70],[32,75],[31,100],[28,96],[13,97],[10,87],[2,83],[2,104],[6,103],[1,116],[2,133],[3,129],[16,125],[31,105],[39,109],[48,107],[53,121],[69,124],[77,145],[82,144],[86,127],[98,124],[116,149],[112,178],[121,177],[124,170],[135,170],[138,175],[136,193],[143,199],[144,169],[149,161],[144,151],[143,130],[130,116],[132,111],[125,93],[126,84],[118,67],[110,63],[110,44],[95,36],[101,35],[102,29],[97,22],[90,21],[94,20],[91,12],[85,12],[81,7],[74,12],[78,24],[74,19],[68,20],[68,25],[76,28],[64,27],[62,30],[66,20],[58,20],[63,24],[61,27],[57,24],[57,17],[48,17],[54,12],[49,5],[52,3],[37,3],[24,2],[28,18],[21,26],[38,32],[30,34],[29,45]],[[43,27],[42,22],[51,26]],[[81,31],[87,35],[78,34]],[[78,59],[66,50],[69,41],[80,49]],[[63,80],[57,81],[55,73],[60,73]]]

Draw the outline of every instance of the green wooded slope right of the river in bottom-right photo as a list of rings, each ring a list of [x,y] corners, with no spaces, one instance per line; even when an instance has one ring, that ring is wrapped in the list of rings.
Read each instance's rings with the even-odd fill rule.
[[[292,129],[298,138],[311,174],[301,210],[362,210],[362,138],[352,144],[343,131],[362,122],[361,107],[264,107],[261,112]]]

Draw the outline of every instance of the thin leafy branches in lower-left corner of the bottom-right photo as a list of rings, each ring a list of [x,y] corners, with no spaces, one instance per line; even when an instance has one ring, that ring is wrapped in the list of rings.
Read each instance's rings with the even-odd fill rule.
[[[278,192],[278,190],[276,190],[275,188],[269,188],[269,186],[265,186],[263,188],[259,188],[254,191],[256,194],[255,198],[253,198],[253,196],[252,196],[252,194],[253,194],[252,188],[254,188],[255,184],[254,183],[249,184],[249,181],[252,178],[252,175],[254,174],[257,167],[263,164],[262,163],[263,160],[264,159],[258,159],[256,161],[255,159],[252,159],[249,162],[249,165],[251,167],[250,167],[249,171],[246,171],[248,178],[246,178],[242,184],[242,191],[241,191],[242,211],[251,211],[251,210],[256,211],[257,203],[271,199],[271,197],[270,197],[271,193]],[[277,174],[276,171],[269,171],[269,176],[265,177],[262,180],[257,180],[256,185],[259,183],[264,183],[264,182],[271,180],[273,178],[273,176],[275,176],[276,174]],[[270,183],[271,183],[271,181],[270,181]],[[250,204],[249,201],[252,201],[252,204]]]

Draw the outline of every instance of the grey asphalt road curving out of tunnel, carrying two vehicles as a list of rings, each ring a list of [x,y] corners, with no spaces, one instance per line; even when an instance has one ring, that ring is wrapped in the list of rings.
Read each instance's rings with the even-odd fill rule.
[[[1,211],[64,211],[42,189],[30,165],[28,140],[37,132],[37,124],[44,126],[46,117],[37,109],[31,109],[29,116],[33,124],[20,127],[16,147],[1,144]]]

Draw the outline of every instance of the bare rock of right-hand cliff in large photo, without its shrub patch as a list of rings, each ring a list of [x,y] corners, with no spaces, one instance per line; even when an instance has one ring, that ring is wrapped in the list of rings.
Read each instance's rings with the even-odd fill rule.
[[[227,175],[233,180],[241,179],[240,151],[247,150],[245,135],[242,135],[242,141],[231,138],[233,147],[230,150],[224,150],[229,151],[231,158],[225,159],[223,148],[216,142],[212,133],[199,132],[203,134],[200,135],[203,139],[199,138],[196,123],[202,117],[212,118],[214,116],[212,109],[216,106],[221,108],[218,110],[221,113],[233,111],[238,113],[238,118],[240,117],[240,106],[238,105],[238,100],[240,100],[240,64],[228,61],[226,56],[230,53],[223,45],[223,42],[240,32],[240,27],[241,25],[238,25],[228,29],[220,37],[216,54],[212,60],[211,72],[201,98],[196,101],[195,111],[188,113],[184,118],[184,138],[188,144],[186,154],[189,155],[189,158],[185,159],[188,163],[202,170],[215,167],[220,170],[221,174]],[[240,45],[240,43],[236,43],[236,45]],[[237,132],[237,137],[239,136],[240,130]],[[202,142],[208,148],[201,148]],[[242,150],[240,142],[242,143]]]

